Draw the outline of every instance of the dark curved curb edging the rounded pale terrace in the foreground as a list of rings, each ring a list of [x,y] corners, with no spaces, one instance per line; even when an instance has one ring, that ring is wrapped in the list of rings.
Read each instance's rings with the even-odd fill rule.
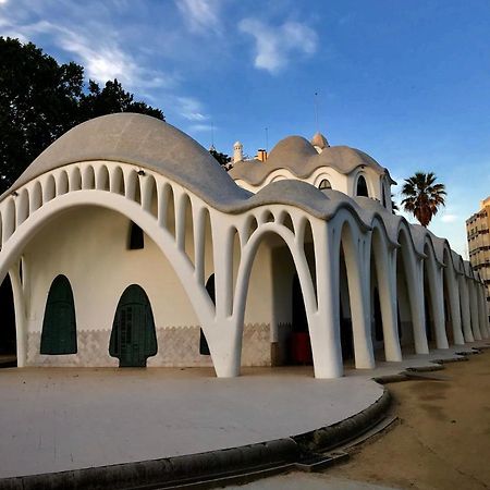
[[[228,450],[136,463],[28,475],[0,479],[0,490],[149,490],[209,488],[292,469],[326,451],[358,437],[377,425],[390,407],[387,390],[369,407],[352,417],[311,432]],[[216,483],[215,483],[216,485]]]

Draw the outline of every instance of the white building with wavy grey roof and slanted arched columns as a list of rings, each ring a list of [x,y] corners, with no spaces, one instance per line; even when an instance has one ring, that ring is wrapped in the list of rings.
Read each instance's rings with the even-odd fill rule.
[[[392,215],[389,172],[319,149],[292,136],[226,174],[146,115],[68,132],[0,199],[17,365],[231,377],[308,362],[310,344],[315,376],[334,378],[351,359],[372,368],[487,338],[480,278]]]

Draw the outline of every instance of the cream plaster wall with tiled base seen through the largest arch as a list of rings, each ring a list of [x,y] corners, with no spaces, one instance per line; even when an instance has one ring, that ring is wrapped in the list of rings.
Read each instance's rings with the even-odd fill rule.
[[[121,294],[132,283],[145,290],[154,311],[159,351],[148,365],[210,364],[198,354],[198,320],[171,265],[146,235],[144,249],[127,249],[128,232],[123,216],[83,207],[50,222],[26,246],[27,364],[118,365],[108,354],[110,332]],[[60,273],[73,289],[78,353],[40,355],[46,301]]]

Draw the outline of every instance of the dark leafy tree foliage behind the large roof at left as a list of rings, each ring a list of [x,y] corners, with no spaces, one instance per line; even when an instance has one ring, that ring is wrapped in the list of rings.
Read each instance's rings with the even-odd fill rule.
[[[114,79],[84,85],[83,66],[58,64],[34,44],[0,37],[0,192],[63,133],[98,115],[159,109],[134,101]]]

